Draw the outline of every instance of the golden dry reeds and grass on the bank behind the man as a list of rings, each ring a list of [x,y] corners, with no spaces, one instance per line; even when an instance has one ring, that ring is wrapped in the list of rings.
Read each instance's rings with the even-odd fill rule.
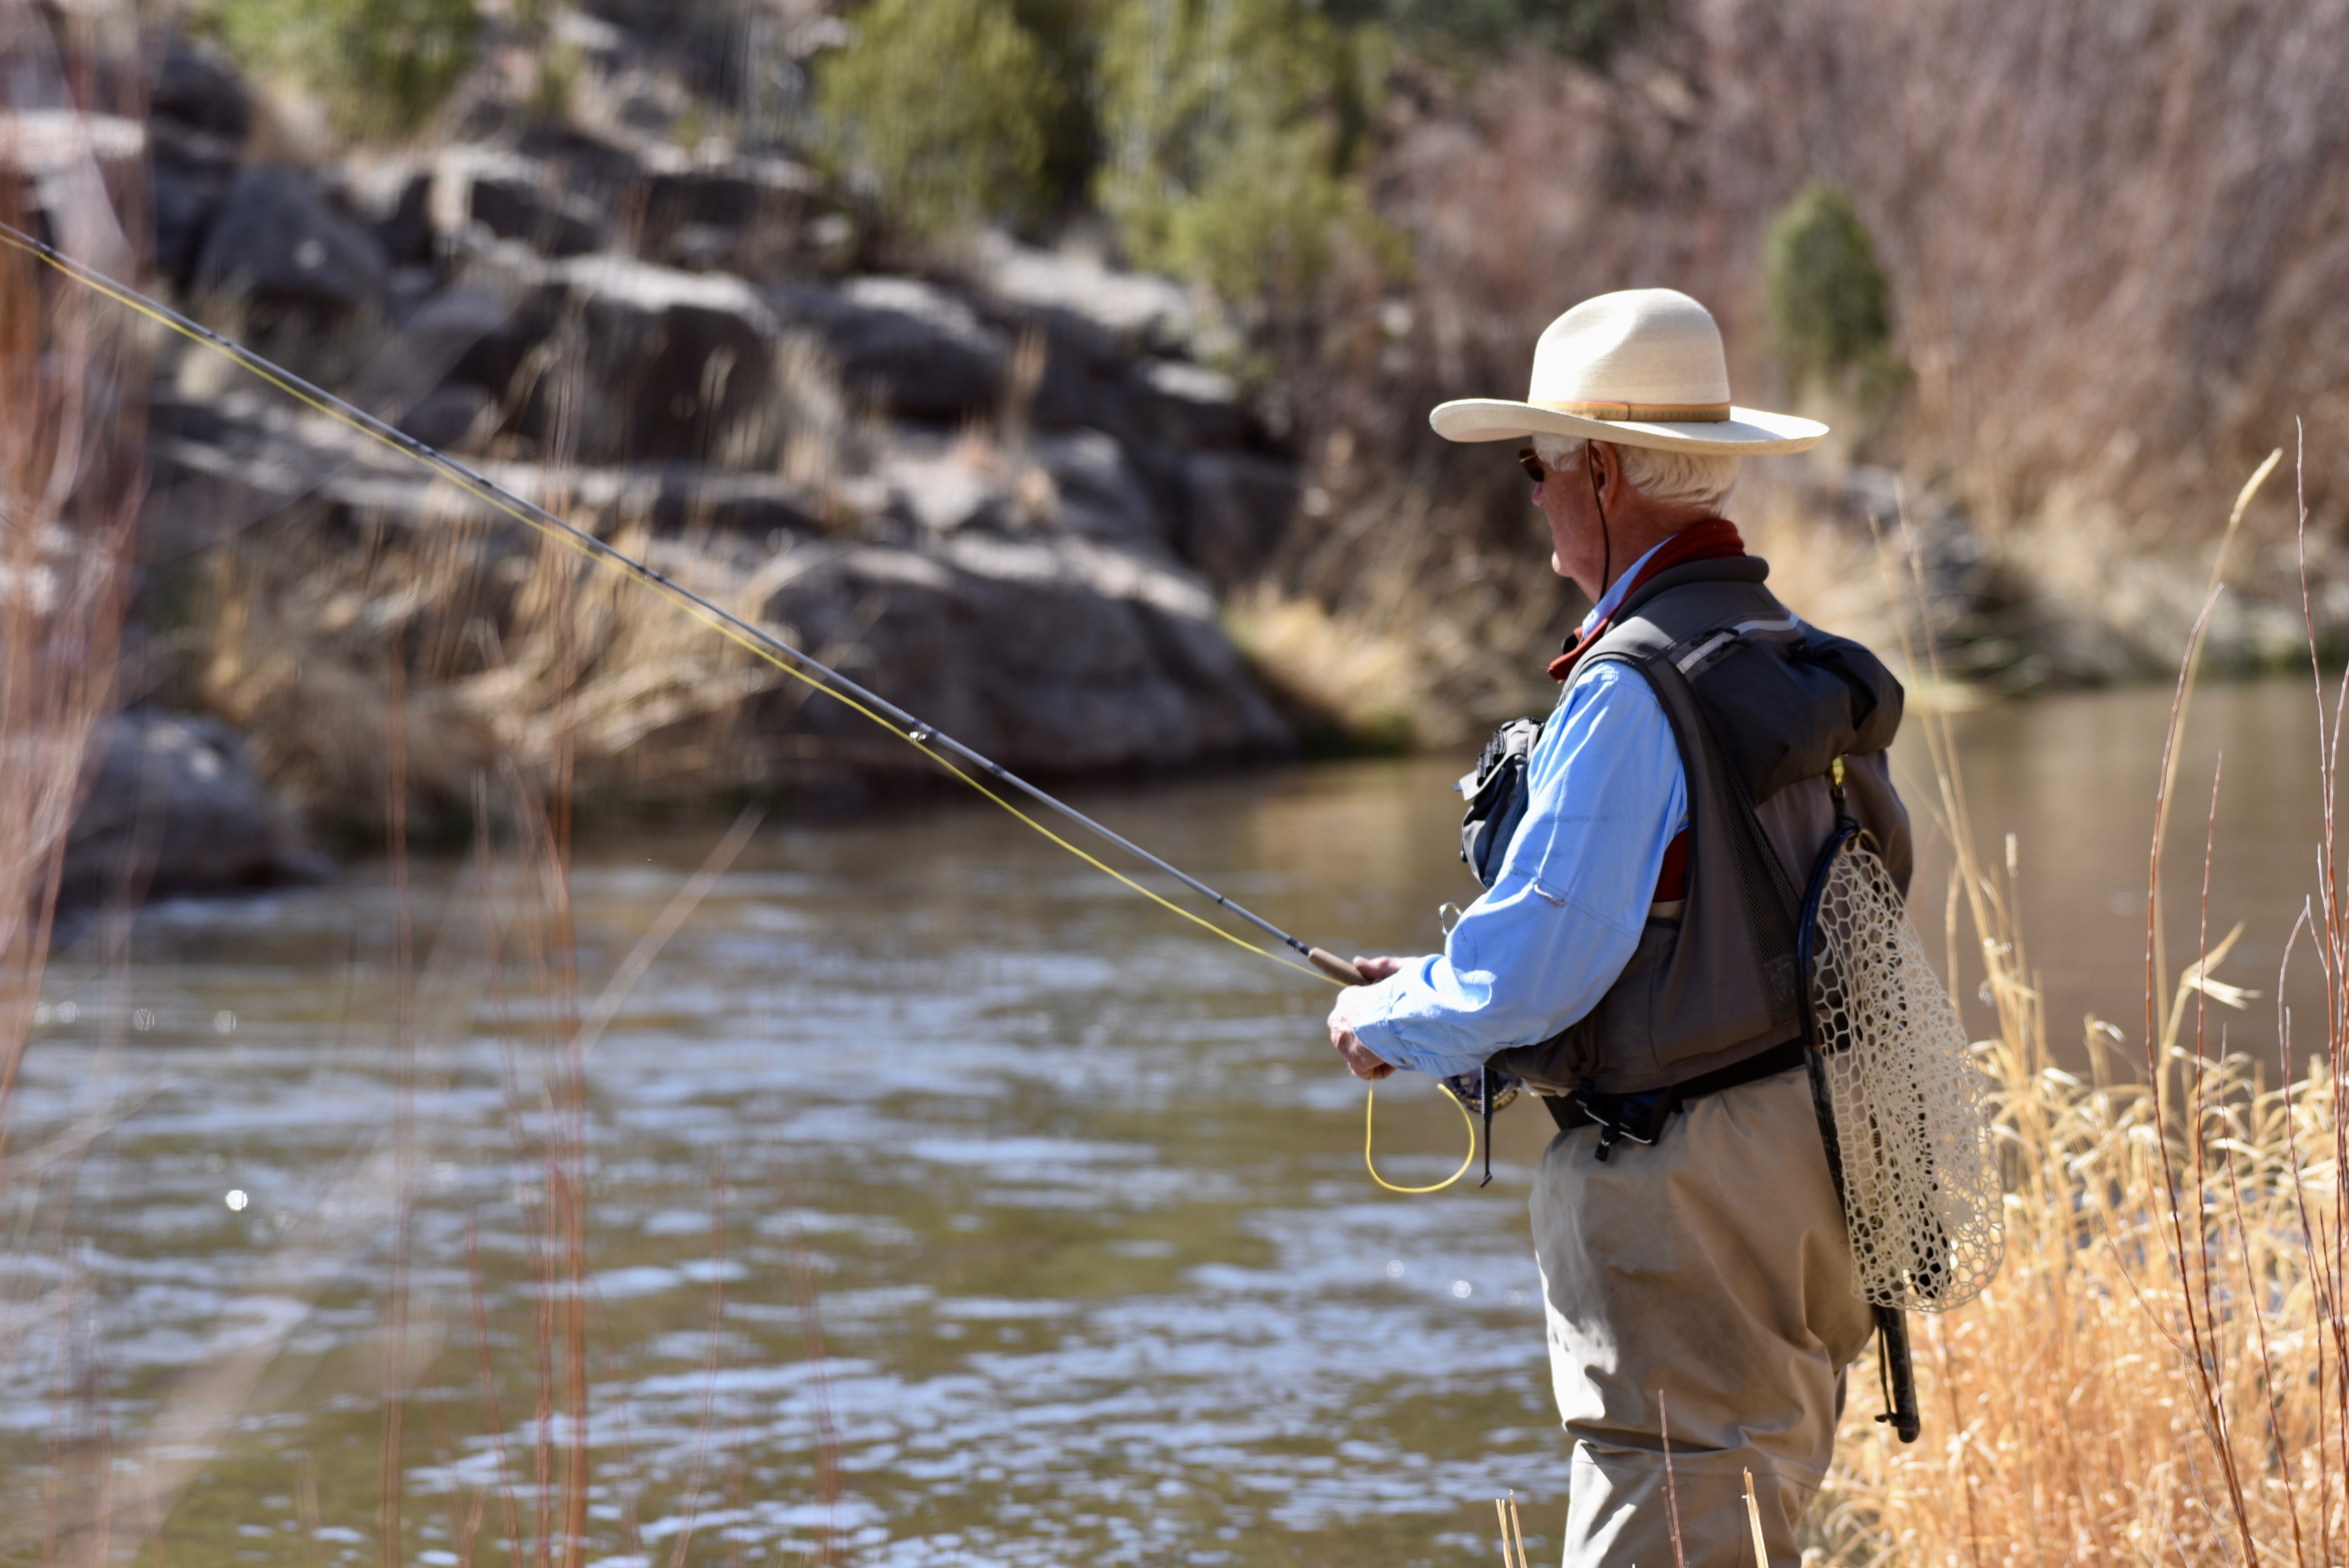
[[[2170,819],[2199,648],[2201,636],[2149,779],[2159,822]],[[1976,1305],[1910,1319],[1924,1441],[1893,1441],[1875,1425],[1872,1390],[1858,1387],[1813,1523],[1830,1561],[2349,1559],[2349,1162],[2337,1115],[2349,908],[2330,805],[2344,697],[2349,683],[2316,678],[2321,878],[2286,960],[2321,967],[2328,1014],[2279,1014],[2274,1059],[2227,1042],[2213,1002],[2243,1007],[2248,993],[2217,979],[2234,934],[2208,918],[2215,772],[2208,812],[2180,815],[2203,824],[2199,852],[2166,854],[2156,829],[2142,1019],[2133,1030],[2091,1019],[2086,1075],[2055,1063],[2018,918],[2022,847],[1976,852],[1961,758],[1947,721],[1926,716],[1936,815],[1954,852],[1950,972],[1983,974],[1997,1014],[1978,1052],[1997,1082],[2006,1268]],[[2199,951],[2175,981],[2156,941],[2170,866],[2189,873],[2173,883],[2201,890]]]

